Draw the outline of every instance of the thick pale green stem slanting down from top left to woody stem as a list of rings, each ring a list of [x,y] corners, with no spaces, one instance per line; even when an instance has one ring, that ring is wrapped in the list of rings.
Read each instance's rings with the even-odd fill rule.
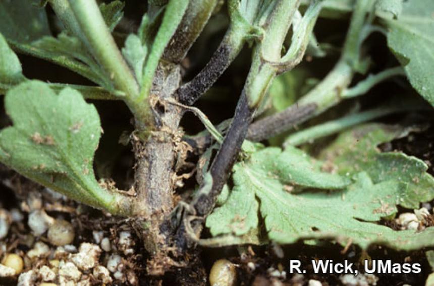
[[[137,82],[105,25],[95,0],[69,0],[69,4],[92,55],[110,75],[116,88],[125,92],[126,100],[136,98],[139,92]]]

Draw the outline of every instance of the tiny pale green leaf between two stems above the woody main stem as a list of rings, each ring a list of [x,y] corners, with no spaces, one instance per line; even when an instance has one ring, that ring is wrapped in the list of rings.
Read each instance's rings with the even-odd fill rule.
[[[140,38],[135,34],[130,34],[127,37],[125,47],[122,49],[122,54],[134,70],[134,74],[140,85],[143,79],[143,65],[146,58],[146,51],[146,46],[142,44]]]

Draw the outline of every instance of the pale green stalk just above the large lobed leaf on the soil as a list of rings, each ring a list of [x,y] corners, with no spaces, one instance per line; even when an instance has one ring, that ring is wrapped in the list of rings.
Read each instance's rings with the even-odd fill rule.
[[[348,127],[354,126],[356,124],[366,122],[378,117],[389,115],[396,112],[406,111],[408,108],[403,107],[379,107],[372,110],[351,114],[336,120],[325,122],[322,124],[315,125],[310,128],[298,131],[291,134],[285,140],[283,146],[299,146],[305,144],[306,142],[312,142],[315,139],[332,135],[338,133]]]

